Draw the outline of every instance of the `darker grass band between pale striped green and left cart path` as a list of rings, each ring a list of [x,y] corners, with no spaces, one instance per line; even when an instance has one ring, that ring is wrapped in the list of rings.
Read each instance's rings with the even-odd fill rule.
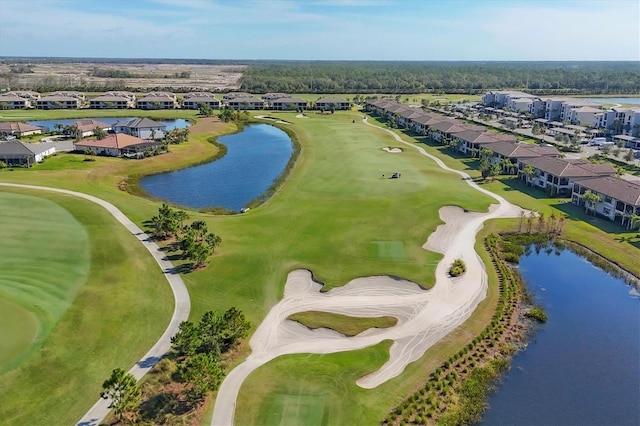
[[[111,370],[128,369],[162,334],[173,310],[171,289],[144,246],[104,208],[2,188],[0,196],[8,195],[43,199],[71,214],[88,235],[90,269],[38,350],[0,375],[0,424],[73,424],[99,398]],[[56,240],[42,245],[45,253],[61,248]]]

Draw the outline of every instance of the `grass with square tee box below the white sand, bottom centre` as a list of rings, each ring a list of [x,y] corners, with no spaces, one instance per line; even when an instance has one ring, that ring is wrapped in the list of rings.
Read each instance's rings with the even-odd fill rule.
[[[373,425],[395,399],[355,384],[388,358],[391,342],[329,355],[287,355],[260,368],[244,382],[236,408],[237,425]],[[282,374],[286,371],[287,374]],[[295,377],[291,380],[290,377]]]

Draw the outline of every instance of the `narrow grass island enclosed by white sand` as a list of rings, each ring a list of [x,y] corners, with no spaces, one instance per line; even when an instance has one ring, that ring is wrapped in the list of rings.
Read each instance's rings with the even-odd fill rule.
[[[330,328],[345,336],[356,336],[370,328],[388,328],[398,323],[394,317],[356,318],[329,312],[307,311],[289,315],[287,318],[305,327]]]

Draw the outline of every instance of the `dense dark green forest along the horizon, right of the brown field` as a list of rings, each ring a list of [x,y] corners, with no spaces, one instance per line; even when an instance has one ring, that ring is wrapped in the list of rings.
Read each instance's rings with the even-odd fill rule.
[[[639,62],[273,62],[250,65],[251,93],[640,92]]]

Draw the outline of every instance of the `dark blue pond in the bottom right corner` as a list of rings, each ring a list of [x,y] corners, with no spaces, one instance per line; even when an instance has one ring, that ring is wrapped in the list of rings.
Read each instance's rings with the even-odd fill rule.
[[[549,315],[489,400],[487,425],[639,425],[640,298],[572,253],[520,265]]]

